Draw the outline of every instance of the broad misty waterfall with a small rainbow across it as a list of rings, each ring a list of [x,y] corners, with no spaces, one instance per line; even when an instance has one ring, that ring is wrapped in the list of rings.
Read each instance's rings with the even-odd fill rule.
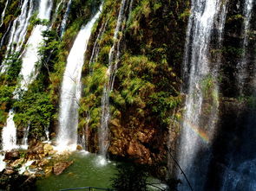
[[[220,23],[216,25],[218,20]],[[186,111],[178,157],[194,190],[204,190],[211,141],[218,120],[218,66],[211,65],[209,48],[214,28],[221,41],[225,20],[226,3],[223,1],[192,1],[184,56],[184,81],[188,81]],[[181,190],[188,190],[181,173],[177,175],[182,180]]]

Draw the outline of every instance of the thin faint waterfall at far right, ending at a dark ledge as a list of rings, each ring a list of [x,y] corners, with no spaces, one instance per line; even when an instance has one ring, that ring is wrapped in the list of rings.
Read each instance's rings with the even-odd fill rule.
[[[241,56],[240,63],[238,64],[238,86],[240,89],[240,95],[244,94],[244,88],[245,88],[245,81],[248,77],[248,73],[246,70],[247,63],[248,63],[248,56],[247,56],[247,50],[248,50],[248,40],[249,40],[249,29],[251,27],[250,21],[252,19],[252,10],[253,10],[253,0],[246,0],[245,2],[245,9],[244,9],[244,41],[242,45],[243,54]]]

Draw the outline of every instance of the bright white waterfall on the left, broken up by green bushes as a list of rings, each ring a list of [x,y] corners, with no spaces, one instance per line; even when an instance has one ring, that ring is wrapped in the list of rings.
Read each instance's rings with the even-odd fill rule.
[[[26,1],[26,0],[25,0]],[[39,4],[38,18],[49,20],[52,3],[50,0],[41,0]],[[23,66],[20,72],[22,80],[20,87],[16,88],[14,98],[18,99],[19,92],[26,91],[30,83],[36,78],[36,62],[39,60],[37,49],[43,42],[42,32],[47,29],[46,26],[37,25],[33,29],[30,39],[25,48],[22,60]],[[16,127],[13,121],[14,112],[9,112],[9,117],[6,126],[3,127],[2,140],[3,150],[11,150],[16,148]]]

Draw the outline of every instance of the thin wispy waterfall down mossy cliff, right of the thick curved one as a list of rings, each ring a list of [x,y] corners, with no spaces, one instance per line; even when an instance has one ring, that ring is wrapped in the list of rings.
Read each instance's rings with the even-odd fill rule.
[[[119,15],[117,18],[117,23],[115,27],[115,34],[114,34],[114,44],[110,49],[108,55],[108,81],[104,86],[103,94],[102,94],[102,118],[101,118],[101,127],[99,131],[99,148],[100,154],[103,157],[106,157],[109,145],[109,130],[108,130],[108,122],[110,119],[110,105],[109,105],[109,94],[113,91],[114,82],[115,82],[115,73],[117,70],[117,65],[120,59],[120,42],[121,42],[121,35],[125,25],[123,24],[126,22],[126,11],[129,8],[129,4],[132,3],[128,0],[121,1],[121,9],[119,11]],[[128,13],[129,15],[129,13]]]

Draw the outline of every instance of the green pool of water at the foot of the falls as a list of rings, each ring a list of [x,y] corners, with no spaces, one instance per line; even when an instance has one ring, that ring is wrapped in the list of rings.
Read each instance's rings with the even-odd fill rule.
[[[50,175],[36,181],[36,191],[58,191],[63,188],[111,188],[115,162],[101,164],[99,156],[76,152],[70,156],[74,163],[62,175]]]

